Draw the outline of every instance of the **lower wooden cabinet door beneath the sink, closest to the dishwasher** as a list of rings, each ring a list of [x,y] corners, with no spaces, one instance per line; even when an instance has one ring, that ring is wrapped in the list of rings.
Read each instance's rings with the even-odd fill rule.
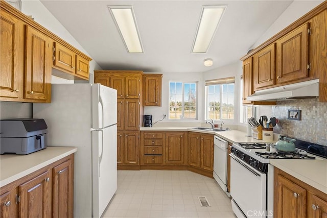
[[[201,135],[200,141],[200,158],[201,165],[203,169],[208,171],[214,170],[214,137],[212,135]]]

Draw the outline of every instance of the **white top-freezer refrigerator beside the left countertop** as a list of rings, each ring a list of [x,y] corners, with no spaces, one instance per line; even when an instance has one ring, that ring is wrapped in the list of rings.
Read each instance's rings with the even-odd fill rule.
[[[77,147],[74,217],[100,217],[117,189],[116,90],[100,84],[52,84],[52,102],[33,104],[48,125],[47,146]]]

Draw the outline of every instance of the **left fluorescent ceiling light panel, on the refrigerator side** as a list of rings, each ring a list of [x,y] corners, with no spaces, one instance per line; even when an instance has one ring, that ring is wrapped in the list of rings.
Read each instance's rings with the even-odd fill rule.
[[[143,53],[132,6],[107,6],[129,53]]]

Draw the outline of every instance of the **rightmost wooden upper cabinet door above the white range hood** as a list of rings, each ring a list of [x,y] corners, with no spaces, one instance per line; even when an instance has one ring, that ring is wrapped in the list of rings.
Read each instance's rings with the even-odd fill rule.
[[[309,77],[309,23],[277,41],[277,83]]]

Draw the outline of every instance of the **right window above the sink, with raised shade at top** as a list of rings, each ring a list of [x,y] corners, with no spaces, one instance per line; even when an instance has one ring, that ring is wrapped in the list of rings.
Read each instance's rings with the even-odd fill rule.
[[[209,80],[206,88],[206,119],[234,119],[234,78]]]

